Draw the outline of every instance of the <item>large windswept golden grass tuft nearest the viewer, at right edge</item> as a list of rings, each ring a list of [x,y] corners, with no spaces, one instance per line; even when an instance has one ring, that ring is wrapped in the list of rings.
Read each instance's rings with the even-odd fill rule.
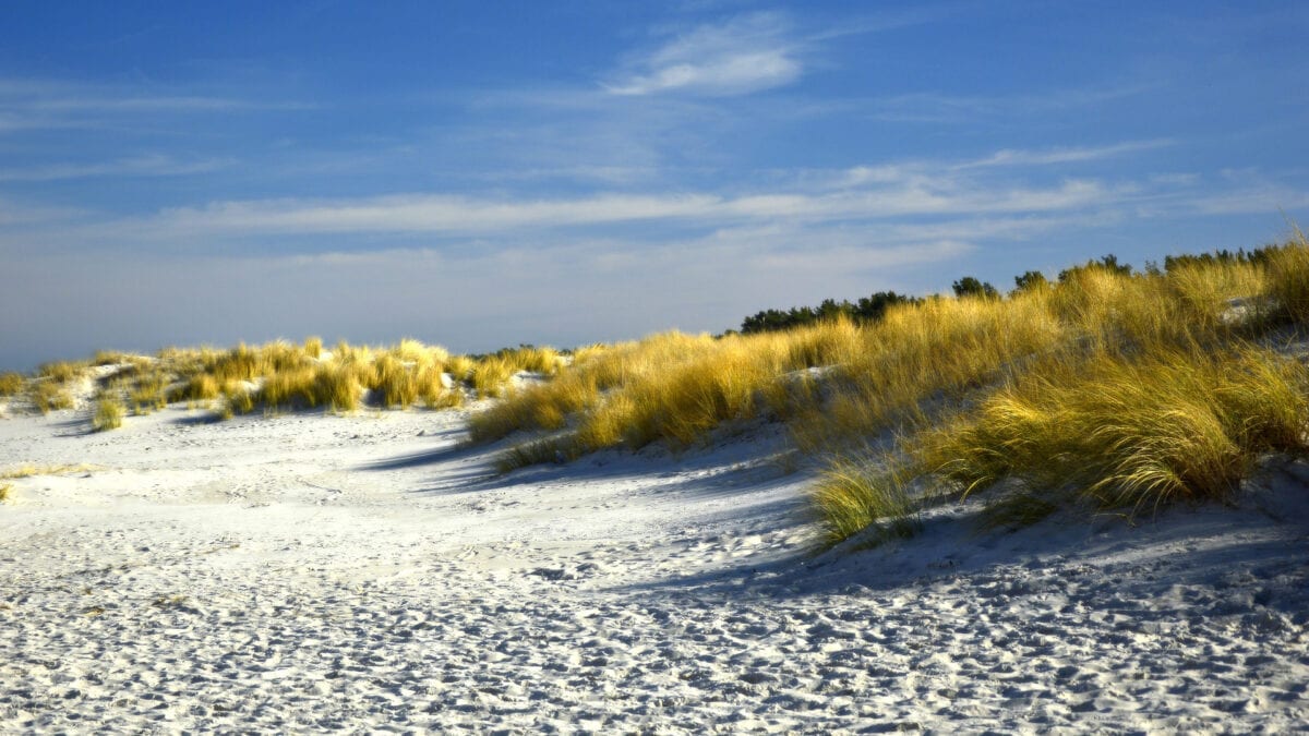
[[[1309,371],[1272,351],[1160,348],[1051,365],[927,433],[922,466],[963,491],[1013,479],[1100,508],[1228,498],[1259,454],[1301,453]]]

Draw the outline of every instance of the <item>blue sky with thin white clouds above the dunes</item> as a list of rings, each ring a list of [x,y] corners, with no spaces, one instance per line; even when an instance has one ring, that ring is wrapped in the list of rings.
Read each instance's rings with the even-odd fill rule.
[[[719,333],[1309,225],[1300,0],[5,3],[0,369]]]

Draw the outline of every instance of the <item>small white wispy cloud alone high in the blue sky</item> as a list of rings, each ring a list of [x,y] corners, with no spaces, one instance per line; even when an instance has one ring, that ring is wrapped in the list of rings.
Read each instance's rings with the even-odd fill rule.
[[[804,71],[787,30],[771,13],[702,25],[639,59],[605,88],[627,96],[734,96],[787,85]]]

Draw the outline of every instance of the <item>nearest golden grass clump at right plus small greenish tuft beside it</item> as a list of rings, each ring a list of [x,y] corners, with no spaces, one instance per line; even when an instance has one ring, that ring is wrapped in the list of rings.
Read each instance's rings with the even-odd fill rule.
[[[814,504],[829,542],[898,519],[884,499],[908,483],[982,496],[991,526],[1077,507],[1132,517],[1178,500],[1229,500],[1261,457],[1305,454],[1306,430],[1309,368],[1275,350],[1101,354],[1050,361],[914,433],[880,461],[906,464],[894,473],[825,477]]]

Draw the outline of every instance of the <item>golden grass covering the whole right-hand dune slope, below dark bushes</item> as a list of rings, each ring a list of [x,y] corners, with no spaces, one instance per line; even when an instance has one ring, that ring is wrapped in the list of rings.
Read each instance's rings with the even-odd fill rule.
[[[1102,259],[876,322],[589,347],[470,433],[526,432],[500,457],[509,470],[780,419],[823,464],[813,506],[830,543],[912,532],[922,494],[977,494],[1004,526],[1223,499],[1261,454],[1306,449],[1304,367],[1261,340],[1309,323],[1309,245],[1257,255],[1135,274]],[[886,432],[902,441],[868,460]]]

